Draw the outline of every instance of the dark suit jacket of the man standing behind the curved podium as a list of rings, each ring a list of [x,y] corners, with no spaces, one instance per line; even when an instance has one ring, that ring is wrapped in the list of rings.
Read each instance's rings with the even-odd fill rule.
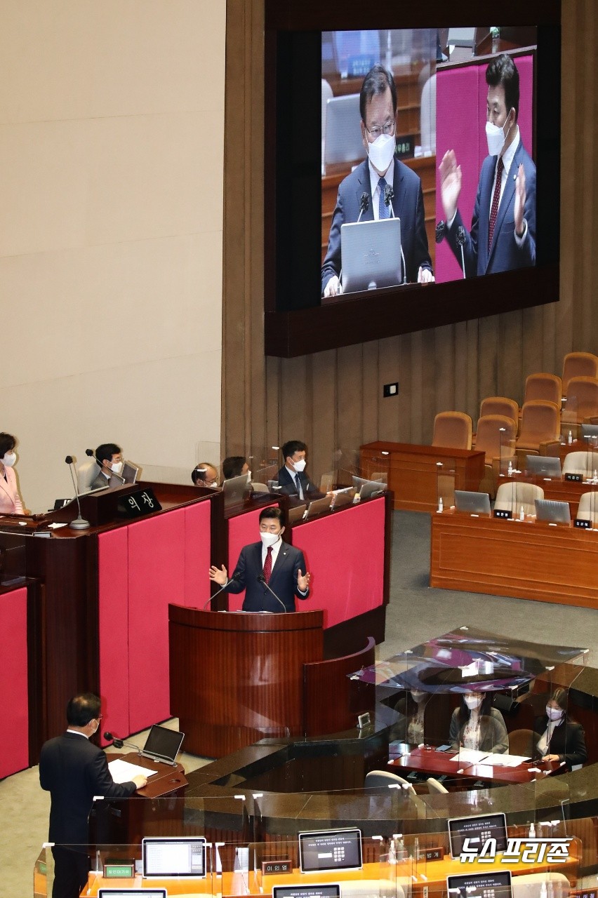
[[[229,593],[242,593],[245,590],[243,600],[244,612],[276,612],[282,613],[280,603],[268,592],[263,583],[258,583],[258,577],[262,573],[261,565],[261,541],[251,542],[249,546],[243,546],[241,555],[234,568],[233,577],[226,586]],[[270,575],[269,587],[284,603],[287,612],[295,611],[295,595],[299,599],[306,599],[299,593],[297,586],[297,572],[305,573],[305,559],[303,552],[283,542],[278,550],[278,557]]]

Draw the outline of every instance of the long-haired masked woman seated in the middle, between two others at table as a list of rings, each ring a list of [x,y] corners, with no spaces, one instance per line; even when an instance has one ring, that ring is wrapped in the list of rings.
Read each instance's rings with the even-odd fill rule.
[[[453,749],[504,754],[509,740],[503,716],[492,708],[491,692],[465,692],[459,708],[453,711],[450,739]]]

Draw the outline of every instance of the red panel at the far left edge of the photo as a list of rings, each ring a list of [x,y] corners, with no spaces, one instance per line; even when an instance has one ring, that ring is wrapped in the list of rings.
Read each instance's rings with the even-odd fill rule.
[[[27,589],[0,595],[0,779],[29,767]]]

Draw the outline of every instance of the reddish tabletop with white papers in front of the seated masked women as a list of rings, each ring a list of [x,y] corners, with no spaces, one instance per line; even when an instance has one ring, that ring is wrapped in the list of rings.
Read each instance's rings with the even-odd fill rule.
[[[452,761],[455,753],[435,752],[433,748],[414,748],[409,754],[395,758],[389,763],[392,770],[415,770],[428,773],[430,776],[442,774],[452,779],[462,780],[463,788],[470,788],[471,780],[484,779],[502,785],[514,783],[531,783],[536,779],[544,779],[559,769],[557,762],[538,762],[521,764],[519,767],[495,767],[491,764],[470,764]],[[541,773],[530,771],[530,767],[539,768]],[[397,770],[398,769],[398,770]]]

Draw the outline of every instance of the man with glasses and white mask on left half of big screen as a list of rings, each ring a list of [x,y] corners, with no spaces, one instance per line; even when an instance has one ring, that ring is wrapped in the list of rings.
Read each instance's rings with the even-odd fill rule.
[[[359,111],[367,159],[347,175],[339,186],[337,205],[330,225],[328,251],[321,267],[321,290],[324,297],[341,292],[341,225],[357,221],[364,193],[370,202],[360,221],[378,221],[380,217],[389,217],[384,204],[387,185],[392,190],[394,215],[400,218],[400,241],[407,280],[419,283],[434,280],[432,261],[427,251],[421,181],[416,172],[394,158],[397,89],[391,72],[383,66],[376,65],[365,75],[359,94]]]

